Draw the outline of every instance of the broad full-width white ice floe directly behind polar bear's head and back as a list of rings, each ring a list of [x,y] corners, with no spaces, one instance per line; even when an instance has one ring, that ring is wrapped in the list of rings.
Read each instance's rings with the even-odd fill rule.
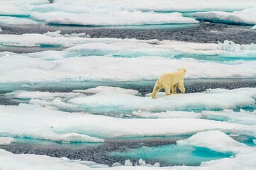
[[[187,69],[186,78],[189,79],[254,78],[256,75],[255,61],[216,63],[164,57],[106,56],[45,61],[24,55],[4,55],[0,62],[3,64],[0,68],[2,83],[153,80],[165,72],[175,72],[183,67]]]

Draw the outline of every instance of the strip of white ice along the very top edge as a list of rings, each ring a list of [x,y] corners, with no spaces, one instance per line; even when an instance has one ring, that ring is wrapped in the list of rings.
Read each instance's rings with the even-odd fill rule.
[[[53,4],[49,4],[48,1],[32,1],[33,3],[31,3],[31,1],[21,1],[20,3],[15,3],[15,1],[11,1],[11,3],[10,1],[8,2],[9,5],[25,8],[27,11],[63,11],[68,13],[116,13],[119,11],[239,11],[244,8],[256,6],[255,1],[253,0],[245,0],[242,2],[239,0],[233,0],[233,3],[230,3],[229,0],[184,0],[182,2],[178,0],[110,0],[107,1],[107,3],[102,0],[87,0],[86,2],[81,0],[55,0]],[[26,8],[27,6],[30,8]]]

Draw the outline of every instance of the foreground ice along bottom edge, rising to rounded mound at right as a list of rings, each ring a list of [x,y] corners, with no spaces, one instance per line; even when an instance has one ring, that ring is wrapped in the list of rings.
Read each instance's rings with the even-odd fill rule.
[[[215,135],[218,135],[216,139]],[[203,139],[203,140],[202,140]],[[215,141],[215,142],[213,142]],[[188,138],[187,140],[178,141],[178,145],[194,147],[206,147],[213,150],[218,150],[220,152],[235,152],[235,157],[218,159],[210,162],[203,162],[200,166],[169,166],[169,167],[147,167],[143,160],[139,160],[139,164],[142,166],[131,166],[132,162],[127,160],[125,166],[121,164],[114,164],[114,167],[108,168],[105,165],[95,166],[94,169],[100,167],[100,169],[172,169],[172,170],[186,170],[186,169],[221,169],[225,166],[228,170],[238,170],[238,169],[254,169],[256,166],[255,162],[255,148],[247,147],[232,140],[228,135],[225,135],[220,131],[208,131],[208,132],[198,132],[196,135]],[[225,146],[225,147],[223,147]],[[3,149],[0,149],[0,164],[4,169],[28,169],[36,167],[36,169],[90,169],[89,162],[83,161],[73,161],[66,158],[53,158],[41,155],[33,154],[11,154]],[[47,162],[47,164],[46,164]]]

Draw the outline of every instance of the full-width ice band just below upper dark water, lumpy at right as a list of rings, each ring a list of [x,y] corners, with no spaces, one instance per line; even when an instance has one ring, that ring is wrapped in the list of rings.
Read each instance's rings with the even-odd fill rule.
[[[232,41],[214,43],[181,42],[170,40],[136,40],[117,38],[89,38],[85,33],[61,35],[60,31],[41,34],[0,35],[0,45],[13,47],[56,47],[62,51],[24,54],[42,60],[63,57],[169,57],[198,58],[200,60],[253,60],[255,44],[240,45]]]

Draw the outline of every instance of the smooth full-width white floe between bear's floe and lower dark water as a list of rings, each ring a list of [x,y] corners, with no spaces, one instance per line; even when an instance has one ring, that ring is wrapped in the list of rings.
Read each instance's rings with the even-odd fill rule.
[[[197,118],[122,119],[54,111],[29,104],[0,106],[0,111],[0,136],[7,137],[32,137],[58,142],[102,142],[105,137],[193,135],[206,130],[256,137],[256,127],[252,125]]]

